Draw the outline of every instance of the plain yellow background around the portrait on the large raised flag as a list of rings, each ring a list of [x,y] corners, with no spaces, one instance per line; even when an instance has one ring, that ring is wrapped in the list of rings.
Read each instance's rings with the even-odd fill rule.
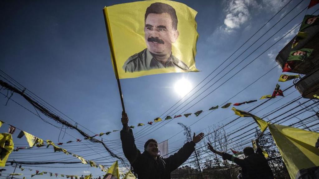
[[[198,38],[195,16],[197,11],[187,5],[174,1],[138,1],[125,4],[116,4],[105,7],[104,18],[107,25],[108,41],[111,50],[111,59],[117,79],[135,78],[144,75],[160,73],[185,72],[181,68],[161,68],[147,71],[125,73],[122,68],[130,56],[147,48],[145,43],[145,11],[155,2],[171,5],[177,15],[179,32],[178,38],[171,44],[172,54],[183,61],[189,71],[197,72],[195,67],[196,43]]]

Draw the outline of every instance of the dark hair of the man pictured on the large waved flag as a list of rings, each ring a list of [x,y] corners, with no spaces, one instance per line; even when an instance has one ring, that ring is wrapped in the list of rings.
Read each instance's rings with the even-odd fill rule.
[[[175,9],[168,5],[168,4],[164,4],[164,3],[153,3],[151,4],[145,12],[145,19],[144,21],[146,21],[146,18],[148,16],[148,14],[150,13],[154,13],[154,14],[161,14],[161,13],[168,13],[169,16],[171,16],[172,19],[172,26],[174,30],[177,30],[177,16],[176,16],[176,11]]]

